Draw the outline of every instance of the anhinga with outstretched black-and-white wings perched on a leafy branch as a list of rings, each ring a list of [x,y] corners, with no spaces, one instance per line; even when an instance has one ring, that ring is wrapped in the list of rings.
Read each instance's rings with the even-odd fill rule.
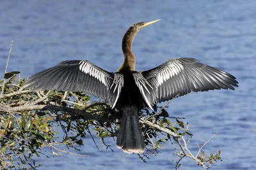
[[[238,87],[236,78],[231,74],[192,58],[170,59],[154,69],[135,71],[134,36],[157,21],[131,25],[122,41],[124,62],[115,73],[88,60],[67,60],[34,74],[26,84],[35,90],[79,90],[111,104],[123,115],[117,147],[126,153],[143,153],[145,145],[138,119],[141,109],[152,109],[153,104],[191,91],[234,90],[233,86]]]

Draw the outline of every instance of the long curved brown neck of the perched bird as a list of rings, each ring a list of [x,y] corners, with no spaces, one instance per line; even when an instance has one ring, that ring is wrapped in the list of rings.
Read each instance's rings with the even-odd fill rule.
[[[122,50],[124,53],[124,62],[122,66],[119,67],[118,71],[122,69],[129,69],[131,71],[135,70],[136,60],[135,56],[132,53],[132,41],[138,31],[134,27],[130,27],[127,32],[124,34],[122,41]]]

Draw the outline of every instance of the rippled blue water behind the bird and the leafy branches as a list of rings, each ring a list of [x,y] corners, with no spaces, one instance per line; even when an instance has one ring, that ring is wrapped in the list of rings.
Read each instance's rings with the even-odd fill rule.
[[[136,22],[160,22],[140,31],[132,50],[136,69],[158,66],[175,57],[195,57],[236,76],[239,88],[191,93],[170,104],[170,115],[186,117],[194,133],[189,148],[196,153],[212,134],[206,152],[221,150],[223,162],[212,169],[256,169],[256,1],[7,1],[0,5],[0,73],[4,73],[10,41],[8,71],[30,76],[63,60],[86,59],[108,71],[123,61],[120,43]],[[76,157],[36,158],[43,169],[173,169],[170,144],[143,163],[138,155],[115,152],[87,138]],[[99,143],[98,143],[99,144]],[[100,146],[100,144],[99,144]],[[184,159],[182,169],[200,169]]]

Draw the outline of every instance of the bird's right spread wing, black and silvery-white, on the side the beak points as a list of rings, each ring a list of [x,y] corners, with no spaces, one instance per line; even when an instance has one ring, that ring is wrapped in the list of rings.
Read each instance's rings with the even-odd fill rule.
[[[154,69],[134,73],[134,80],[150,108],[191,91],[238,87],[231,74],[192,58],[170,59]]]

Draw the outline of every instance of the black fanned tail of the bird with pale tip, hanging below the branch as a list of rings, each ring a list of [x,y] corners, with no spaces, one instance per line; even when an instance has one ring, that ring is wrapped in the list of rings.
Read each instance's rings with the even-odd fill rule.
[[[139,122],[139,110],[134,105],[126,105],[116,139],[116,146],[125,153],[143,153],[145,144]]]

